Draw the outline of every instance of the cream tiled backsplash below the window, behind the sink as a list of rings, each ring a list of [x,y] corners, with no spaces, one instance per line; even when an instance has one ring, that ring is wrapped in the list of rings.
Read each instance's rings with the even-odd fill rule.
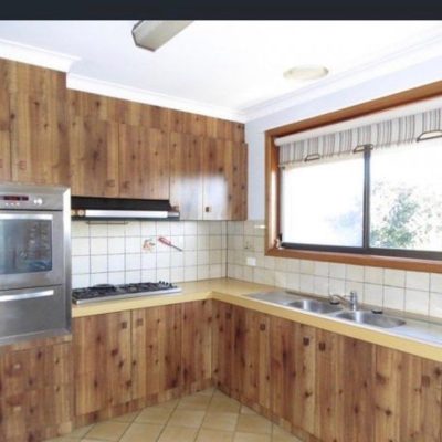
[[[264,256],[263,223],[228,223],[229,277],[319,296],[356,290],[365,304],[442,318],[441,274]]]

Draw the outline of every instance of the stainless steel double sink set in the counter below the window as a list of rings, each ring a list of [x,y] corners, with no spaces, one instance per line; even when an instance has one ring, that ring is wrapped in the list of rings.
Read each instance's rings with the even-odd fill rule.
[[[254,293],[249,295],[249,297],[282,305],[284,307],[291,307],[304,312],[325,315],[327,317],[334,317],[336,319],[344,319],[380,328],[400,327],[401,325],[406,324],[403,319],[394,316],[388,316],[383,313],[373,313],[369,309],[349,311],[345,309],[341,304],[333,304],[327,299],[319,301],[308,298],[302,294],[293,294],[290,292]]]

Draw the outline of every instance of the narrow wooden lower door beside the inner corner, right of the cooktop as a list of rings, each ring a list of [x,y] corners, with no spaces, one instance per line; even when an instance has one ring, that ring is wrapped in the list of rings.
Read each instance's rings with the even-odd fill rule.
[[[212,301],[182,304],[182,387],[193,393],[211,385]]]

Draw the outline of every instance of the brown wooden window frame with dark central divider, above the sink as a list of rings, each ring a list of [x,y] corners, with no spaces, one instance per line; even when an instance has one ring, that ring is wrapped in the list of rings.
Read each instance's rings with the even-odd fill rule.
[[[369,246],[362,249],[316,244],[281,244],[278,236],[281,231],[281,169],[278,167],[280,149],[275,145],[275,139],[278,137],[440,96],[442,96],[442,81],[265,131],[265,255],[442,273],[442,253],[440,252]],[[366,149],[364,156],[364,208],[367,213],[367,219],[365,217],[364,220],[364,245],[368,245],[370,177],[369,170],[367,170],[369,168],[367,156],[370,156],[370,150]]]

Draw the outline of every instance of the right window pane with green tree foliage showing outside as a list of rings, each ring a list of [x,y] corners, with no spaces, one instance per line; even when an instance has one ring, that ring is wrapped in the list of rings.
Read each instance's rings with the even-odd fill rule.
[[[370,246],[442,251],[442,143],[372,151]]]

